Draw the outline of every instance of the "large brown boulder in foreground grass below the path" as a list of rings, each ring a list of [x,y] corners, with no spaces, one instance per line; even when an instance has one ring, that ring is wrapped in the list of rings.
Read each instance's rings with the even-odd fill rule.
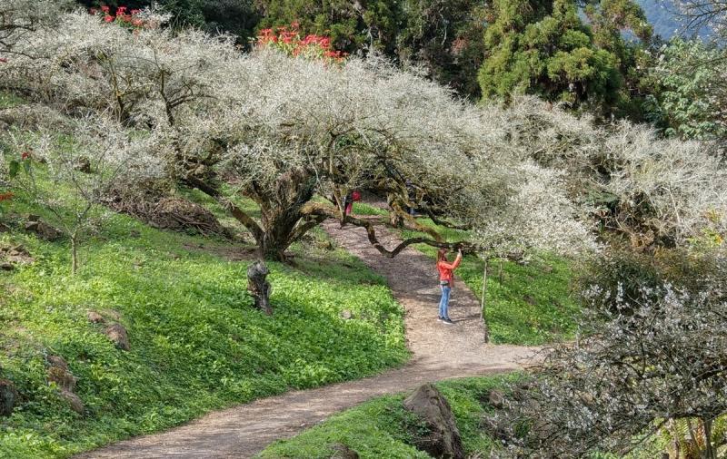
[[[426,423],[429,433],[415,446],[437,458],[464,459],[462,437],[447,399],[431,383],[417,388],[403,401],[403,407]]]

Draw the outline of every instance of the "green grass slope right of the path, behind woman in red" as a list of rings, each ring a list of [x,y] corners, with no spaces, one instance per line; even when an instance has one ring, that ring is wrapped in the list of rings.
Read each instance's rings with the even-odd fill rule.
[[[383,210],[356,203],[355,212],[378,215]],[[450,241],[466,240],[468,236],[464,231],[438,227],[429,219],[420,219],[420,222],[437,229]],[[405,238],[427,236],[408,229],[402,233]],[[432,259],[435,276],[436,249],[424,244],[414,247]],[[481,259],[466,256],[455,271],[455,276],[462,278],[478,298],[482,295],[483,268]],[[540,345],[573,337],[575,317],[580,308],[571,296],[572,278],[569,260],[547,254],[524,265],[503,260],[502,270],[500,260],[491,261],[487,278],[487,317],[492,342]],[[456,308],[456,291],[451,305]]]

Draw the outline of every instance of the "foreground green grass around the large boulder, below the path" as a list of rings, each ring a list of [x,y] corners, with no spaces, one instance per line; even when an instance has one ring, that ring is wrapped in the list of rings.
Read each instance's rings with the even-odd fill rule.
[[[466,454],[489,455],[495,444],[480,426],[482,416],[491,410],[486,404],[487,396],[493,388],[519,377],[513,374],[466,378],[436,385],[452,407]],[[425,431],[425,425],[403,409],[405,396],[383,396],[346,410],[301,435],[271,444],[259,457],[323,459],[334,453],[332,444],[345,444],[362,459],[430,457],[413,446],[417,435]]]

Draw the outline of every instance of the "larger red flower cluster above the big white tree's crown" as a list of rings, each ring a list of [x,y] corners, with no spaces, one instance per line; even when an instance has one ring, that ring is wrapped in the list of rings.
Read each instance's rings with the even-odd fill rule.
[[[347,54],[331,49],[331,38],[324,35],[308,34],[301,37],[300,25],[295,22],[290,28],[276,27],[275,30],[263,29],[257,36],[258,46],[274,46],[290,55],[323,58],[342,62]]]

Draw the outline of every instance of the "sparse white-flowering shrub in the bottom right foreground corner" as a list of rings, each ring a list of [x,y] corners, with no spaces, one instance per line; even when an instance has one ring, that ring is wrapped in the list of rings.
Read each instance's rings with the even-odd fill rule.
[[[503,455],[622,455],[688,422],[699,425],[692,440],[699,457],[722,456],[727,259],[717,253],[691,263],[686,278],[662,273],[638,288],[586,291],[582,337],[555,347],[517,400],[490,420]]]

